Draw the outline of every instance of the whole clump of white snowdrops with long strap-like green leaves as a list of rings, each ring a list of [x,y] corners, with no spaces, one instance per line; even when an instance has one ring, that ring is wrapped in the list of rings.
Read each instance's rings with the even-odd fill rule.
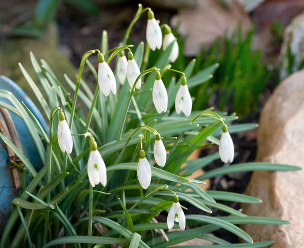
[[[135,48],[127,40],[133,25],[145,12],[146,41]],[[246,247],[251,247],[251,237],[237,224],[287,224],[271,218],[248,219],[241,210],[217,202],[258,203],[259,199],[200,187],[205,179],[237,172],[238,165],[190,177],[207,161],[233,161],[234,147],[227,125],[233,127],[231,133],[256,127],[233,125],[232,121],[237,119],[234,114],[213,108],[192,112],[189,91],[210,78],[215,67],[211,65],[196,75],[192,75],[195,60],[183,71],[171,68],[170,62],[181,54],[176,39],[168,26],[159,25],[150,8],[143,9],[141,5],[121,46],[108,51],[107,40],[104,31],[100,50],[86,52],[77,78],[65,75],[66,82],[60,82],[47,62],[38,63],[32,53],[31,62],[41,88],[20,65],[49,122],[48,129],[43,129],[26,105],[0,90],[0,96],[12,102],[9,110],[25,120],[42,161],[39,165],[31,164],[0,133],[25,166],[21,168],[22,190],[12,200],[12,214],[3,230],[0,248],[65,244],[78,248],[160,248],[194,237],[227,245],[226,241],[207,235],[219,228],[229,230],[248,242]],[[150,53],[159,55],[155,64],[150,64]],[[90,62],[91,56],[97,56],[98,64]],[[85,66],[95,78],[93,89],[86,82],[88,75],[83,75]],[[79,107],[80,101],[83,108]],[[0,105],[8,107],[2,101]],[[212,144],[219,145],[219,152],[200,160],[187,160],[196,149]],[[34,169],[37,167],[40,170]],[[256,164],[247,163],[240,170],[255,168]],[[274,170],[269,163],[259,163],[258,168]],[[280,164],[275,168],[298,169]],[[208,215],[194,215],[183,210],[182,205],[193,205]],[[213,217],[214,209],[230,216]],[[167,221],[162,222],[165,218],[160,215]],[[187,225],[196,227],[191,231],[167,232],[185,229]],[[254,247],[272,243],[257,242]]]

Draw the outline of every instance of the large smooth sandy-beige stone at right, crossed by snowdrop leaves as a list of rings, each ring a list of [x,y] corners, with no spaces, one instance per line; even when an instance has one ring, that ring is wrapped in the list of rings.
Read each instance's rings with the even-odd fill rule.
[[[287,77],[262,111],[257,161],[304,167],[304,71]],[[254,241],[275,240],[272,248],[300,248],[304,244],[304,170],[254,172],[246,194],[261,204],[243,204],[250,216],[281,218],[290,225],[244,225]]]

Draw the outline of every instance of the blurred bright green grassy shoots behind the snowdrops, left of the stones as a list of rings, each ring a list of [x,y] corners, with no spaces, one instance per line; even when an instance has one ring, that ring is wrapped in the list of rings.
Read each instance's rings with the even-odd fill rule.
[[[261,52],[252,51],[252,36],[253,29],[242,38],[239,26],[230,38],[218,38],[210,49],[202,49],[196,57],[193,74],[215,63],[219,66],[211,80],[192,89],[194,111],[207,107],[210,98],[215,98],[214,104],[220,110],[232,110],[240,116],[257,109],[259,95],[270,80],[272,71],[261,62]],[[183,44],[180,48],[182,51]],[[179,56],[175,63],[183,67],[187,60]]]

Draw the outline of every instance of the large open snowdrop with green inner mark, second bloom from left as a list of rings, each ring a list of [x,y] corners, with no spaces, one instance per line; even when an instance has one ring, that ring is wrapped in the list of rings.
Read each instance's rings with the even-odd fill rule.
[[[90,184],[95,187],[101,183],[106,186],[106,167],[97,149],[96,141],[91,142],[91,151],[88,160],[88,176]]]

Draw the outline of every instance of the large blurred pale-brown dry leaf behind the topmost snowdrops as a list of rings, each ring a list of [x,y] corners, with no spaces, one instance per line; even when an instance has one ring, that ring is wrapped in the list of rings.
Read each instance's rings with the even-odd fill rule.
[[[180,9],[171,19],[171,25],[178,27],[181,36],[187,36],[184,54],[195,56],[202,45],[211,46],[216,38],[231,35],[242,23],[246,33],[251,27],[251,20],[243,8],[231,1],[225,10],[216,1],[198,0],[197,8]]]

